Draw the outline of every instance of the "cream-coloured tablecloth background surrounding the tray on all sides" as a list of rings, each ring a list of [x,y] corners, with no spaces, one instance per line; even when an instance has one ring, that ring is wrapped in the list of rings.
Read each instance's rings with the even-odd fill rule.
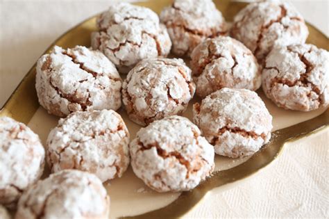
[[[108,3],[0,0],[0,106],[53,40]],[[329,35],[328,1],[293,3]],[[208,194],[186,217],[328,218],[328,142],[327,130],[287,145],[275,163],[223,193]]]

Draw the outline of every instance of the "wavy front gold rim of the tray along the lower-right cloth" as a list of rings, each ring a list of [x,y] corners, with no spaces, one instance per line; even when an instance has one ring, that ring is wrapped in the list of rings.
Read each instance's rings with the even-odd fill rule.
[[[308,136],[317,131],[328,129],[329,110],[318,117],[295,124],[292,127],[280,129],[272,133],[271,142],[264,145],[259,152],[248,161],[237,165],[235,168],[217,171],[191,191],[183,192],[171,204],[140,216],[126,218],[178,218],[190,211],[212,188],[217,188],[234,181],[253,175],[258,170],[269,165],[289,142]]]

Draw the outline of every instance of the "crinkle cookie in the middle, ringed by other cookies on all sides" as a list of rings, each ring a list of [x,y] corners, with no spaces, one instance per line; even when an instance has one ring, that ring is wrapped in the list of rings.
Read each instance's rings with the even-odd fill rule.
[[[195,84],[182,59],[142,60],[122,86],[122,98],[130,120],[146,125],[169,115],[180,115],[192,99]]]

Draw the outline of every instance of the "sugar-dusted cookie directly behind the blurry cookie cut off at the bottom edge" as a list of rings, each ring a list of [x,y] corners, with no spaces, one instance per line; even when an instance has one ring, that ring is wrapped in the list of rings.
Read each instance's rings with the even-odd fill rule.
[[[106,181],[128,168],[128,143],[126,124],[115,111],[71,113],[49,133],[47,162],[52,172],[77,169]]]

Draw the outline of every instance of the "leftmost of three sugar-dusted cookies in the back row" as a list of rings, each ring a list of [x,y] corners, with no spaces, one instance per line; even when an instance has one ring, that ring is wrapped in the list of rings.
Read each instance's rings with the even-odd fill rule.
[[[151,9],[113,3],[97,19],[92,47],[100,49],[120,73],[128,73],[140,60],[167,56],[171,40],[165,25]]]

